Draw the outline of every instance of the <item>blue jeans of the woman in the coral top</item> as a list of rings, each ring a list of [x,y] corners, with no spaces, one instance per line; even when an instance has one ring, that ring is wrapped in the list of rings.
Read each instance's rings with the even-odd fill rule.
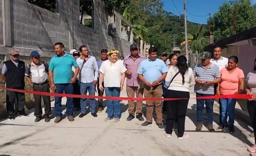
[[[229,127],[234,126],[235,120],[235,104],[236,99],[219,99],[221,102],[221,121],[223,125],[227,125],[227,117]]]

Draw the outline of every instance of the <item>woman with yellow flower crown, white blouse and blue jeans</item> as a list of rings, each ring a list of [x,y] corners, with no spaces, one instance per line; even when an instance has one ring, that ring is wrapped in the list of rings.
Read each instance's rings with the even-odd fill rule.
[[[121,61],[118,60],[118,50],[110,50],[107,54],[109,60],[102,63],[99,71],[99,89],[105,89],[107,97],[119,97],[123,89],[125,71],[127,70]],[[101,85],[104,80],[104,87]],[[113,118],[115,122],[120,118],[120,100],[107,100],[107,114],[105,121]]]

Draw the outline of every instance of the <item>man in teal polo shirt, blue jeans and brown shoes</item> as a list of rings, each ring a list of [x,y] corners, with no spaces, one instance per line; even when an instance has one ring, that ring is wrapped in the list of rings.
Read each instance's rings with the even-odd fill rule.
[[[49,65],[49,79],[51,89],[55,93],[65,92],[65,94],[73,94],[73,85],[79,72],[79,67],[70,54],[64,52],[64,44],[57,42],[54,45],[56,55],[51,58]],[[72,66],[75,67],[75,74],[72,77]],[[62,97],[55,97],[55,123],[62,120]],[[73,98],[67,98],[66,114],[69,121],[74,121],[73,115]]]

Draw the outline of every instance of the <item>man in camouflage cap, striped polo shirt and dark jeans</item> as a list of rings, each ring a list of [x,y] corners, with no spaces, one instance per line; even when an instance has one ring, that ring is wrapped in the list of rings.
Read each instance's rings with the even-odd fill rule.
[[[196,97],[213,96],[214,84],[220,82],[220,70],[219,67],[213,63],[210,63],[211,53],[206,51],[200,55],[201,63],[194,67],[193,73],[195,76],[194,92]],[[201,131],[203,123],[203,109],[204,104],[207,114],[207,129],[210,132],[214,132],[212,126],[213,121],[213,102],[214,99],[196,99],[197,105],[197,125],[196,131]]]

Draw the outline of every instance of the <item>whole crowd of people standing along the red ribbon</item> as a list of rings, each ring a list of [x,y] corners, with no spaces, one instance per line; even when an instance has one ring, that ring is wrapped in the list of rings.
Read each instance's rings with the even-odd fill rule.
[[[178,139],[189,138],[184,133],[185,118],[190,98],[189,88],[194,86],[196,97],[197,124],[196,131],[201,131],[203,125],[203,109],[206,107],[207,129],[214,132],[213,123],[213,103],[214,99],[203,99],[205,96],[241,94],[245,91],[252,95],[248,99],[248,110],[251,117],[253,128],[256,128],[256,59],[254,68],[244,76],[243,71],[238,67],[238,58],[222,56],[222,48],[216,46],[213,49],[213,58],[210,52],[200,54],[201,63],[193,69],[187,64],[187,58],[180,55],[180,48],[174,47],[170,56],[162,53],[158,58],[158,51],[155,47],[149,49],[149,56],[140,55],[136,44],[130,46],[130,54],[118,59],[118,50],[102,49],[101,59],[89,54],[85,45],[79,50],[72,49],[69,53],[65,52],[64,44],[55,43],[54,50],[56,55],[50,60],[49,66],[45,61],[40,60],[38,51],[30,54],[31,63],[19,60],[19,51],[12,50],[10,60],[5,61],[2,68],[2,78],[6,82],[7,88],[25,88],[24,78],[34,91],[55,93],[78,94],[103,96],[104,91],[107,97],[119,97],[124,88],[126,78],[126,93],[129,98],[181,98],[181,100],[146,101],[146,121],[143,117],[143,103],[128,101],[128,121],[136,118],[144,121],[141,125],[152,124],[153,110],[156,112],[156,124],[159,128],[164,128],[163,114],[166,114],[165,136],[171,138],[173,128],[178,128]],[[245,79],[245,81],[244,81]],[[245,82],[245,83],[244,83]],[[96,89],[97,87],[97,89]],[[43,115],[41,98],[43,97],[45,114]],[[51,102],[50,96],[34,95],[35,98],[35,122],[43,118],[46,122],[50,121]],[[14,103],[17,99],[18,115],[27,117],[24,110],[24,93],[8,91],[6,92],[7,112],[9,119],[15,119]],[[73,108],[80,111],[79,118],[91,113],[97,117],[97,113],[104,110],[103,100],[98,99],[98,110],[96,110],[95,99],[89,100],[90,106],[87,110],[86,98],[67,98],[66,115],[69,121],[74,121]],[[234,133],[234,109],[236,99],[219,99],[220,117],[217,130],[224,130]],[[55,123],[62,120],[62,97],[55,97]],[[120,101],[106,100],[107,117],[105,121],[120,119]],[[227,121],[228,118],[228,121]],[[254,136],[255,132],[254,132]],[[256,141],[256,139],[255,139]],[[248,148],[252,155],[256,155],[256,145]]]

